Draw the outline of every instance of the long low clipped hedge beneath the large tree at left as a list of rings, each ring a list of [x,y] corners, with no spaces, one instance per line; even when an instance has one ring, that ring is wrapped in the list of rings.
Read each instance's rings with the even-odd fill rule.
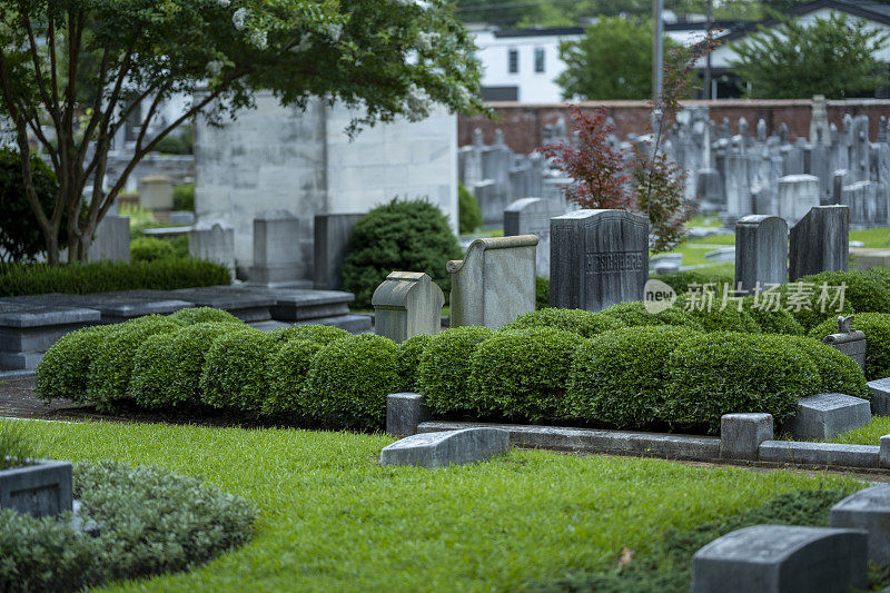
[[[0,264],[0,297],[44,293],[110,293],[115,290],[175,290],[230,284],[229,270],[216,261],[195,258],[137,261],[97,261],[52,268],[43,264]]]

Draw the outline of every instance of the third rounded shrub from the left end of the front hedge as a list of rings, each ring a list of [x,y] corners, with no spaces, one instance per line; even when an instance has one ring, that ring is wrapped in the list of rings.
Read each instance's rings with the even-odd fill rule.
[[[161,408],[174,404],[176,335],[155,334],[136,350],[128,396],[140,406]]]

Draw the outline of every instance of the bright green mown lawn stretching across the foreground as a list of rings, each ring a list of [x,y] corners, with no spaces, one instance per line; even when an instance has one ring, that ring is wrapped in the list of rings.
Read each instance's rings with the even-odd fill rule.
[[[7,421],[9,422],[9,421]],[[609,571],[685,530],[852,478],[514,451],[447,470],[380,467],[383,435],[166,424],[21,424],[41,456],[201,475],[259,510],[245,547],[113,591],[516,590]]]

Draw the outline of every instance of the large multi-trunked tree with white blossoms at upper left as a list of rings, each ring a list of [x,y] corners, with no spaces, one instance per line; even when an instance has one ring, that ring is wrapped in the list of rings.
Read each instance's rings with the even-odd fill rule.
[[[69,260],[86,259],[136,164],[197,115],[221,122],[256,89],[297,108],[313,96],[359,108],[352,132],[422,119],[434,102],[483,109],[473,49],[445,0],[0,0],[0,109],[56,265],[60,233]],[[179,92],[194,98],[188,109],[148,134]],[[134,157],[106,189],[111,139],[128,120],[140,130]],[[59,182],[49,213],[29,137]]]

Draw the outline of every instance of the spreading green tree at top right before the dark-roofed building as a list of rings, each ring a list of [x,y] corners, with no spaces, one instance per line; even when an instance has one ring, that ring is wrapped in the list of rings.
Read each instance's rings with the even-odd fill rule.
[[[736,73],[750,82],[748,97],[802,99],[824,95],[843,99],[870,93],[887,83],[874,52],[890,33],[869,30],[862,19],[832,13],[809,27],[772,12],[778,24],[732,46]]]

